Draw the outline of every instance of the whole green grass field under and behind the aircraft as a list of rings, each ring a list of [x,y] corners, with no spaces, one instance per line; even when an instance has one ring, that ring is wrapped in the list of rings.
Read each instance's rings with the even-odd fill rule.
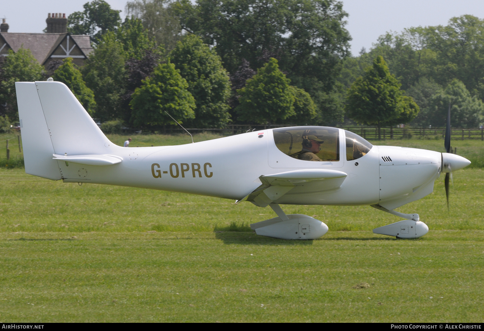
[[[373,143],[443,149],[442,140]],[[464,156],[484,150],[480,141],[453,146]],[[450,213],[443,176],[433,194],[399,208],[429,226],[420,239],[373,234],[400,219],[369,206],[283,206],[330,231],[282,241],[250,231],[275,216],[251,203],[1,168],[0,322],[483,322],[483,185],[484,170],[466,168],[454,172]]]

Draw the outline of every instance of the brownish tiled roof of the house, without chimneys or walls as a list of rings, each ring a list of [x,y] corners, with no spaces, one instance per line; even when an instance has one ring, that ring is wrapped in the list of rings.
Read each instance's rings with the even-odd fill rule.
[[[33,57],[41,64],[57,50],[67,35],[77,44],[86,57],[92,52],[91,42],[88,35],[71,35],[69,33],[17,33],[1,32],[5,42],[17,52],[21,47],[28,48]]]

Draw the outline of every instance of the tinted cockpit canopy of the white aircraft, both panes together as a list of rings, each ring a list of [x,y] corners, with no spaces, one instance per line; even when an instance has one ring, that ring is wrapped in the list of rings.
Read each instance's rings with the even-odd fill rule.
[[[310,161],[339,161],[339,129],[326,126],[302,126],[274,129],[274,143],[284,154],[300,160],[304,153],[310,153],[312,140],[319,144],[320,150],[314,153],[317,158]],[[359,159],[373,147],[361,136],[346,131],[346,159]],[[314,150],[314,149],[313,149]]]

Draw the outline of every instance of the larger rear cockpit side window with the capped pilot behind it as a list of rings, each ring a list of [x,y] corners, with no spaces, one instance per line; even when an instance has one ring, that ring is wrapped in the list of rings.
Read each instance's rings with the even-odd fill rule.
[[[305,161],[339,161],[339,130],[324,126],[274,129],[274,142],[284,154]]]

